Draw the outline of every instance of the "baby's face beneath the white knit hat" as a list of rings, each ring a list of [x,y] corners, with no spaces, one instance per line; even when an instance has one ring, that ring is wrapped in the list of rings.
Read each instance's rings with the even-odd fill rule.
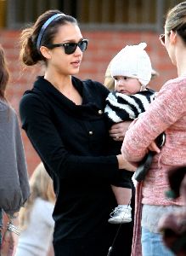
[[[115,76],[115,90],[126,95],[132,95],[140,91],[141,84],[138,79],[124,76]]]

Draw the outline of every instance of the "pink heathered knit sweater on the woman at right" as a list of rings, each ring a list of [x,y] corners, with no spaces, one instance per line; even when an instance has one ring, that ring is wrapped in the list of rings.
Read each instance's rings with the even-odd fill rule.
[[[141,255],[142,204],[182,205],[181,200],[166,199],[165,191],[169,189],[167,172],[186,166],[186,77],[166,82],[144,115],[130,126],[121,148],[123,156],[132,162],[142,160],[145,149],[162,131],[166,132],[166,143],[161,153],[155,154],[144,182],[137,185],[132,256]]]

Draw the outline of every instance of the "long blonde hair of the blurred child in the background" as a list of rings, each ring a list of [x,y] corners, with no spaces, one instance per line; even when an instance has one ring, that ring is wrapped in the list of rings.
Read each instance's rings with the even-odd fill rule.
[[[30,220],[31,209],[36,199],[55,202],[55,195],[53,189],[53,180],[49,177],[42,162],[37,166],[30,178],[31,195],[25,202],[25,206],[20,209],[20,228],[25,230]]]

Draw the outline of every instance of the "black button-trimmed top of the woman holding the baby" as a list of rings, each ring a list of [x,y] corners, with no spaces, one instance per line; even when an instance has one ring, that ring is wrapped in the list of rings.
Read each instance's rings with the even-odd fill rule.
[[[110,91],[92,80],[72,77],[72,82],[82,105],[42,77],[20,102],[22,128],[54,179],[54,241],[111,231],[108,218],[116,199],[110,183],[121,172],[116,156],[107,153],[104,107]]]

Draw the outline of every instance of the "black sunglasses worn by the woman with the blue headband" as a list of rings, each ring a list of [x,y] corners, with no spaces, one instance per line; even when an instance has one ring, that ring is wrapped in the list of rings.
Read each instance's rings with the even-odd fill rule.
[[[82,39],[79,43],[65,43],[65,44],[48,44],[49,49],[54,49],[55,47],[63,47],[65,49],[66,55],[71,55],[75,52],[77,46],[83,51],[87,49],[87,39]]]

